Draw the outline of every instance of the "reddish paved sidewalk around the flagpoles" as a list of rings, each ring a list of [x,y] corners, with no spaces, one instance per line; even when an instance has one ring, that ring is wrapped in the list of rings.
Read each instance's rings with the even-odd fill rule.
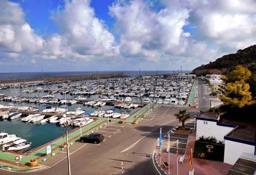
[[[188,146],[186,148],[186,153],[184,157],[184,163],[179,163],[179,174],[184,175],[189,173],[189,153],[190,149],[193,148],[194,150],[194,142],[195,142],[195,131],[193,131],[189,135],[189,141]],[[165,169],[163,166],[163,162],[168,162],[168,153],[162,153],[161,154],[161,162],[160,165],[160,157],[157,156],[157,164],[160,165],[161,169],[168,174],[168,169]],[[177,155],[170,155],[170,174],[177,174]],[[218,161],[209,161],[205,159],[198,159],[193,158],[193,168],[194,168],[194,174],[202,174],[202,175],[221,175],[221,174],[227,174],[229,169],[232,166]]]

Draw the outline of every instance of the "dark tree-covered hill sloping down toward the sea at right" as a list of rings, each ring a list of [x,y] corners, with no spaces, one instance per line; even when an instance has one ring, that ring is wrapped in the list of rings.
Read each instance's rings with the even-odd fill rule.
[[[195,68],[192,73],[196,75],[225,74],[237,65],[243,65],[251,71],[256,71],[256,45],[252,45],[237,53],[224,55],[206,65]]]

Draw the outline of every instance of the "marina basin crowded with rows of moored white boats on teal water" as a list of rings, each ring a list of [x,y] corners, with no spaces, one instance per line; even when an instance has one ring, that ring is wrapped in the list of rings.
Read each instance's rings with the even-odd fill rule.
[[[136,112],[149,110],[149,104],[185,106],[193,84],[194,76],[182,74],[2,88],[0,130],[15,135],[17,140],[7,145],[0,143],[1,148],[3,151],[33,150],[62,136],[66,124],[68,131],[75,131],[76,127],[90,125],[99,119],[132,122],[131,115],[140,116],[143,113],[137,115]],[[51,137],[48,137],[49,132]]]

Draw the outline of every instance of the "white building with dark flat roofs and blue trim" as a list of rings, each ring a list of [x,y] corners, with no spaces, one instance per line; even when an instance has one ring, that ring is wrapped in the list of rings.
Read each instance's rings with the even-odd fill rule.
[[[255,155],[255,126],[239,126],[220,122],[220,115],[214,112],[200,112],[196,117],[196,140],[199,137],[215,137],[225,144],[224,162],[234,164],[242,153]]]

